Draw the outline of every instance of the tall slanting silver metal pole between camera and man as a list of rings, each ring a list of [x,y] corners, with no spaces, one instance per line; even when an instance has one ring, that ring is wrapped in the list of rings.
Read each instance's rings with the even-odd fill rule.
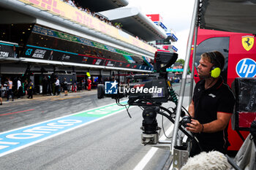
[[[181,90],[180,90],[180,95],[178,97],[178,106],[177,106],[176,118],[174,123],[174,129],[173,129],[173,139],[172,139],[171,148],[170,148],[170,152],[172,155],[173,155],[174,147],[176,146],[176,136],[178,134],[178,123],[181,117],[181,107],[182,107],[183,98],[184,98],[184,91],[185,91],[185,85],[186,85],[186,79],[187,79],[187,70],[189,68],[189,57],[191,53],[193,34],[196,26],[195,23],[197,19],[198,5],[199,5],[199,0],[195,0],[194,10],[192,15],[192,22],[191,22],[190,31],[189,31],[189,42],[187,44],[187,52],[186,52],[186,58],[184,63],[184,72],[182,74],[182,80],[181,80]]]

